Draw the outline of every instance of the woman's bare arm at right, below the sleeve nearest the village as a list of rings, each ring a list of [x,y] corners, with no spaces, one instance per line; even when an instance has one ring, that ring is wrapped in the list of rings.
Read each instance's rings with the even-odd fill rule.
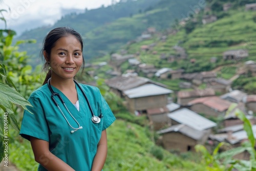
[[[101,138],[98,143],[97,153],[93,160],[92,171],[102,170],[106,161],[107,152],[108,152],[108,144],[106,141],[106,130],[104,130],[101,132]]]

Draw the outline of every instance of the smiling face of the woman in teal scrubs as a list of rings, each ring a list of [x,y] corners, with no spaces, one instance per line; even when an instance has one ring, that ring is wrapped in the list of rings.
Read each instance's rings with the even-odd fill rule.
[[[44,52],[46,56],[46,52]],[[61,37],[50,53],[50,66],[53,79],[73,79],[82,66],[82,49],[73,35]]]

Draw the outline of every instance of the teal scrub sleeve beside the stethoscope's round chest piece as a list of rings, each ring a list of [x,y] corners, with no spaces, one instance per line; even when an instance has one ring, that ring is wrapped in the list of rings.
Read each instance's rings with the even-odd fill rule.
[[[103,98],[101,94],[100,94],[100,100],[101,100],[100,112],[101,112],[101,115],[103,115],[103,127],[102,127],[102,131],[103,131],[107,129],[116,120],[116,118],[113,112],[111,111],[109,104],[106,102],[106,100]]]

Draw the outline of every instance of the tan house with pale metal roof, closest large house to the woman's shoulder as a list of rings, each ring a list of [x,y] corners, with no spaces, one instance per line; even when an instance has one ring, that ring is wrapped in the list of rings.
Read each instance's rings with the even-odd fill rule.
[[[127,101],[127,107],[131,112],[144,113],[148,109],[166,106],[167,97],[173,91],[150,83],[125,90],[123,93]]]

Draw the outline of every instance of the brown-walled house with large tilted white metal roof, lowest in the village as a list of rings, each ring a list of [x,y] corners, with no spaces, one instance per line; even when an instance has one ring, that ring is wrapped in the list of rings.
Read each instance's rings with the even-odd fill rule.
[[[186,108],[167,115],[172,126],[158,131],[165,149],[180,152],[195,151],[195,145],[204,144],[217,124]]]

